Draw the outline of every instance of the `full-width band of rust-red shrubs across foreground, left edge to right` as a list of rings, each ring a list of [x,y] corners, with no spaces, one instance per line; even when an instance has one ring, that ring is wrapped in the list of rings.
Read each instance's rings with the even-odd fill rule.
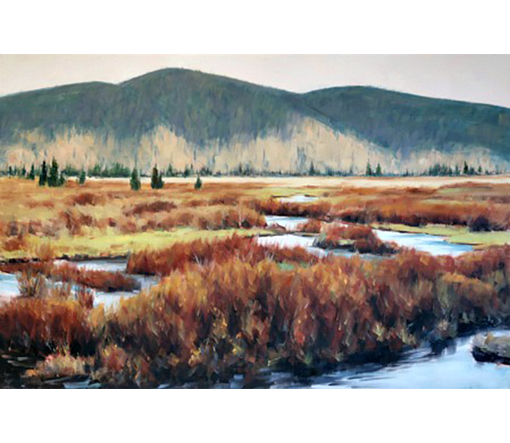
[[[168,273],[161,284],[106,313],[75,301],[12,301],[0,307],[0,346],[93,355],[85,370],[101,383],[152,386],[214,382],[270,364],[307,375],[510,323],[510,246],[455,259],[415,251],[373,261],[328,256],[286,270],[278,252],[239,253],[252,241],[167,250],[161,260],[173,264],[155,262]],[[184,266],[171,261],[183,251]],[[138,259],[154,264],[150,254]],[[84,368],[75,360],[63,367],[75,363]]]

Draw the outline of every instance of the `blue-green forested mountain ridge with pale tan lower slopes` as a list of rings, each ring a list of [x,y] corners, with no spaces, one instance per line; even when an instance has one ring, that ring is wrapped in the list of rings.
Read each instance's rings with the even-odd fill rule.
[[[368,87],[295,94],[185,69],[0,97],[0,165],[229,172],[510,166],[510,110]]]

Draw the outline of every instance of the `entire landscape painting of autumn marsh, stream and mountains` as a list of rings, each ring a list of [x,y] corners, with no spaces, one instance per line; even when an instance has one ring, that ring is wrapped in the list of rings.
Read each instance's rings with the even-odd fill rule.
[[[509,77],[0,56],[0,387],[509,388]]]

